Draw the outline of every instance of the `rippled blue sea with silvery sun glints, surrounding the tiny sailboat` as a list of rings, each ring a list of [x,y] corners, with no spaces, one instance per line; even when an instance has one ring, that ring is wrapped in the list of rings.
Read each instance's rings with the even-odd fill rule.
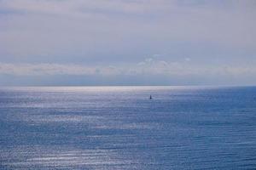
[[[0,88],[0,169],[256,169],[256,88]]]

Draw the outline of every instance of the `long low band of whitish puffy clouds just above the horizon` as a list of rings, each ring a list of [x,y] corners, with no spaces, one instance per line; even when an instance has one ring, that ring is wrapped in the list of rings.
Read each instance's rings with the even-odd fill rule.
[[[90,76],[232,76],[255,75],[256,68],[251,66],[219,65],[199,67],[187,62],[166,62],[150,60],[130,65],[65,65],[65,64],[7,64],[0,63],[0,75],[15,76],[58,76],[58,75],[90,75]],[[152,61],[152,62],[151,62]],[[143,63],[143,64],[142,64]]]

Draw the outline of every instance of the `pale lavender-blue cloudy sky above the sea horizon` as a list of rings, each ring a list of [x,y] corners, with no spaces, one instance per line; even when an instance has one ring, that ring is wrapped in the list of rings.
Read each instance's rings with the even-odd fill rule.
[[[256,85],[254,0],[0,0],[0,86]]]

